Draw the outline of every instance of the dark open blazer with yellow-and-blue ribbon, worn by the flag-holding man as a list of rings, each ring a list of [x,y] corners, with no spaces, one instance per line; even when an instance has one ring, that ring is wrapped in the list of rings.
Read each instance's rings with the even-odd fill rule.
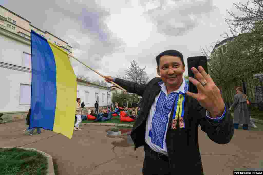
[[[160,93],[161,87],[158,82],[161,78],[155,77],[148,84],[138,84],[123,79],[115,78],[115,83],[130,93],[142,96],[140,113],[135,120],[131,132],[131,138],[135,150],[145,145],[145,126],[151,105],[155,97]],[[170,172],[176,174],[204,174],[201,162],[201,155],[198,144],[198,126],[206,132],[207,136],[218,144],[227,144],[234,135],[233,118],[228,109],[225,117],[220,123],[207,119],[205,108],[199,102],[186,95],[184,103],[185,128],[172,129],[170,125],[166,134],[166,145],[169,157]],[[169,124],[172,118],[170,117]]]

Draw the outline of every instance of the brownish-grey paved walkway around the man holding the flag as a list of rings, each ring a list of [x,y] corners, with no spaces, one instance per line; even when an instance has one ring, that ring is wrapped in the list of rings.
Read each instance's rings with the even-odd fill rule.
[[[229,175],[233,170],[262,168],[263,125],[259,129],[235,130],[229,144],[219,145],[200,130],[199,146],[206,175]],[[105,130],[112,126],[82,126],[71,140],[53,131],[43,130],[40,135],[24,135],[24,120],[0,124],[0,147],[31,147],[57,159],[60,175],[85,174],[142,174],[144,151],[125,144],[122,138],[108,138]],[[119,143],[119,144],[116,144]],[[123,145],[123,147],[113,146]]]

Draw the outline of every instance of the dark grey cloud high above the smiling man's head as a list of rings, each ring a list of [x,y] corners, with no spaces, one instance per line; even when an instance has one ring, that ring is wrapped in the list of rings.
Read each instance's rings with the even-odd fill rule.
[[[145,2],[142,0],[141,4],[145,5]],[[211,0],[189,4],[174,0],[175,5],[170,5],[167,2],[166,0],[160,1],[159,7],[148,10],[144,15],[156,24],[159,33],[170,36],[181,36],[194,29],[199,25],[203,15],[209,15],[216,9]]]

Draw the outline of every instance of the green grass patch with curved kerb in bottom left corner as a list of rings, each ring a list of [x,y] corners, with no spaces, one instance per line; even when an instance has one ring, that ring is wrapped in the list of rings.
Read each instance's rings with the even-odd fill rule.
[[[0,148],[1,175],[45,175],[47,168],[47,158],[39,152],[20,148]]]

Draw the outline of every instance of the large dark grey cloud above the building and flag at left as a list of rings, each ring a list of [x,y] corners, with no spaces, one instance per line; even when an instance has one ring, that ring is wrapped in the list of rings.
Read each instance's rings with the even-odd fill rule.
[[[87,65],[94,65],[94,68],[103,66],[101,61],[104,56],[123,52],[124,41],[114,35],[104,22],[110,13],[95,1],[25,0],[4,1],[2,5],[37,28],[68,42],[73,47],[73,54]],[[78,52],[74,53],[74,49]]]

